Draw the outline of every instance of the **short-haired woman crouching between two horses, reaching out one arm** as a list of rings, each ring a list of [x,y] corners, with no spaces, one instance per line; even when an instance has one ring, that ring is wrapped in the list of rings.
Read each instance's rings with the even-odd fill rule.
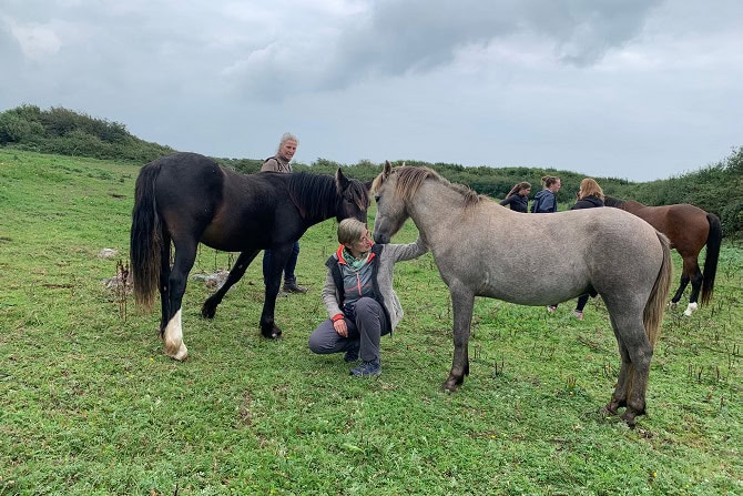
[[[325,265],[323,303],[328,318],[309,336],[317,354],[345,352],[344,361],[362,363],[356,377],[381,374],[379,343],[391,334],[403,307],[393,290],[395,263],[417,259],[428,251],[419,237],[410,244],[374,244],[366,224],[345,219],[338,224],[340,246]]]

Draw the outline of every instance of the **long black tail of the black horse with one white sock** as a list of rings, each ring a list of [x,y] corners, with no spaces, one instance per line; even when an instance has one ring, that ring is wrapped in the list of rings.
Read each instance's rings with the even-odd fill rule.
[[[155,180],[159,173],[159,163],[144,165],[134,186],[130,261],[134,280],[134,302],[145,310],[152,308],[160,281],[163,239],[155,201]]]

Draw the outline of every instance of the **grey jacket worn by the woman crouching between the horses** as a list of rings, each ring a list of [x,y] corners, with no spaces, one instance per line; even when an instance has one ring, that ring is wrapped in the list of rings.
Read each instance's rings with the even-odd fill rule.
[[[389,324],[394,330],[397,324],[403,318],[403,306],[400,301],[397,298],[397,293],[393,290],[393,279],[395,276],[395,263],[404,260],[413,260],[423,255],[428,251],[420,237],[415,243],[410,244],[384,244],[384,245],[374,245],[373,252],[377,252],[378,256],[375,256],[370,263],[376,263],[377,267],[375,270],[375,291],[378,291],[378,300],[381,300],[381,304],[387,311],[389,316]],[[338,263],[338,254],[333,254],[326,265],[328,266],[327,276],[325,277],[325,286],[323,286],[323,303],[327,310],[328,317],[333,317],[339,313],[343,313],[340,306],[343,304],[344,296],[340,294],[338,286],[336,285],[335,277],[333,276],[333,265]]]

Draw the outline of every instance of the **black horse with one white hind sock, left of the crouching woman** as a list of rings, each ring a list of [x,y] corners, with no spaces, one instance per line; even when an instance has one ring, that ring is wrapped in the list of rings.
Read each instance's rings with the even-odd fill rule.
[[[150,308],[155,287],[162,302],[165,353],[184,360],[181,302],[199,243],[241,252],[226,282],[202,306],[214,317],[224,294],[261,250],[271,249],[261,332],[278,337],[274,323],[281,273],[292,246],[318,222],[335,216],[366,222],[367,188],[338,169],[325,174],[238,174],[196,153],[175,153],[144,165],[136,179],[131,267],[136,303]],[[175,256],[171,267],[171,242]]]

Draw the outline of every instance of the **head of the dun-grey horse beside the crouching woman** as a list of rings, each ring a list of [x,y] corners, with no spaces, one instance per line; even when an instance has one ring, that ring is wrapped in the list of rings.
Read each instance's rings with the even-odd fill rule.
[[[397,185],[398,175],[397,170],[393,171],[393,165],[386,161],[381,173],[377,175],[372,185],[372,192],[377,202],[377,216],[374,221],[376,243],[389,243],[408,217],[405,195],[399,194],[400,190]]]

